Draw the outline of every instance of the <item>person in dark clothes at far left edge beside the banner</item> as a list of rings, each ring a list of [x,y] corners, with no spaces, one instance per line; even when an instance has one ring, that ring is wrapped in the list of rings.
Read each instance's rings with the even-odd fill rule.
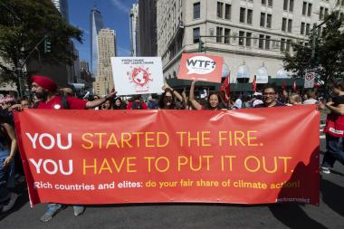
[[[0,110],[0,211],[14,207],[18,195],[8,190],[14,186],[14,156],[17,149],[14,123],[5,110]]]

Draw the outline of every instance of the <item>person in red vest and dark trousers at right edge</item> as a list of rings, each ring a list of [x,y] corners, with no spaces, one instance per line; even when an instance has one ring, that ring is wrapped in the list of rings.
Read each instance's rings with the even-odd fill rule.
[[[332,87],[332,101],[323,104],[320,102],[320,110],[330,110],[326,119],[324,133],[326,133],[326,153],[322,159],[320,170],[324,174],[330,174],[330,167],[336,160],[344,165],[344,81],[335,83]]]

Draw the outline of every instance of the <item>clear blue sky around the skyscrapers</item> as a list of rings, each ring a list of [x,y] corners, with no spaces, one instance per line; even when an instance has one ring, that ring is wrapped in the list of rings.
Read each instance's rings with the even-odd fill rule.
[[[116,31],[118,56],[130,55],[129,13],[138,0],[69,0],[70,24],[83,31],[82,43],[75,41],[80,60],[91,64],[90,13],[94,6],[103,18],[105,28]]]

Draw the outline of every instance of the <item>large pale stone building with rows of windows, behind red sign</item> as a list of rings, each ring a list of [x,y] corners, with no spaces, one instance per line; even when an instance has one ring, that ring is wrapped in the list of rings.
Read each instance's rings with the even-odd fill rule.
[[[342,2],[159,0],[158,56],[164,76],[176,78],[182,52],[198,52],[202,41],[205,53],[224,57],[231,82],[253,81],[254,75],[289,78],[283,69],[284,52],[291,52],[296,41],[310,43],[307,35],[313,24],[322,23],[332,10],[343,9]]]

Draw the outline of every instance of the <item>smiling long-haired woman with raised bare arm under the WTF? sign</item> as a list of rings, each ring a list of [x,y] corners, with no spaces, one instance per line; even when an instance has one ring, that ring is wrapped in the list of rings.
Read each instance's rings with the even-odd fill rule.
[[[205,106],[202,106],[198,101],[195,100],[195,84],[196,81],[191,82],[190,88],[190,102],[196,110],[223,110],[225,106],[220,93],[211,92],[207,100],[205,101]]]

